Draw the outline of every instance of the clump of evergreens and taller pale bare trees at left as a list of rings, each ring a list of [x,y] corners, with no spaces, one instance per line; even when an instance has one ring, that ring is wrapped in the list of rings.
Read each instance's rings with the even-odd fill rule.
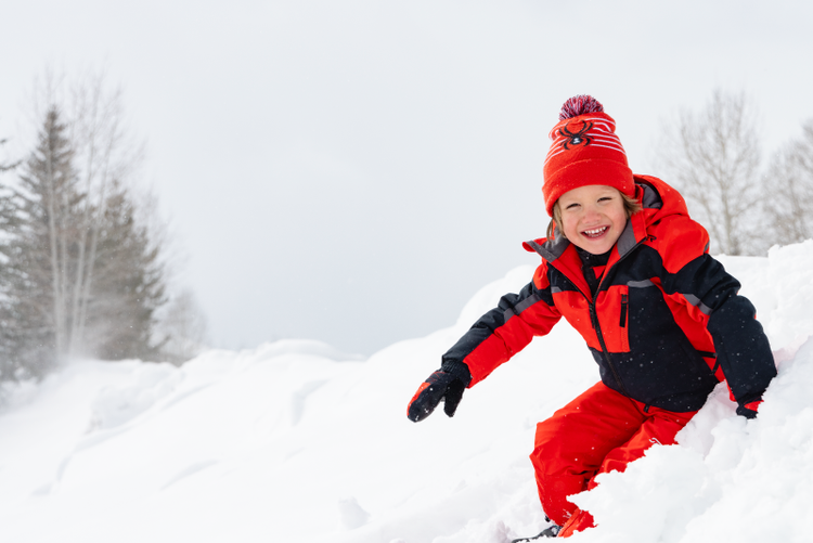
[[[169,292],[166,231],[133,189],[142,145],[121,93],[96,76],[42,95],[33,148],[0,161],[0,380],[77,357],[191,358],[202,316],[189,293]]]

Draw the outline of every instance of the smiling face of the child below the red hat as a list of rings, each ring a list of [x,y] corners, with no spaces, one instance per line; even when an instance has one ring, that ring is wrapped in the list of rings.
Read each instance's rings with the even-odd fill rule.
[[[611,186],[580,186],[563,194],[557,204],[565,236],[593,255],[611,249],[627,225],[623,197]]]

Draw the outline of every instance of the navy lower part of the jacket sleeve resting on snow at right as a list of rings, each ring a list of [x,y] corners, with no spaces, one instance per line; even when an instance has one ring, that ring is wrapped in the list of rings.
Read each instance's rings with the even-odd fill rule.
[[[686,245],[682,246],[684,255]],[[753,305],[737,294],[739,282],[705,249],[697,253],[699,256],[688,261],[683,257],[673,273],[664,270],[661,285],[668,295],[679,297],[687,306],[696,321],[706,325],[714,342],[714,370],[722,371],[733,399],[739,404],[737,412],[752,416],[754,402],[761,400],[776,376],[767,336],[757,321]],[[663,264],[667,270],[670,264],[674,268],[675,257],[670,259],[669,254],[664,255]]]

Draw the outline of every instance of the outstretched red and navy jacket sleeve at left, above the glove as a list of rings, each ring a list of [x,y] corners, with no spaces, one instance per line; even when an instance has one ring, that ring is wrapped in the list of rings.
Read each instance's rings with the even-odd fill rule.
[[[441,369],[468,370],[472,387],[522,350],[534,336],[547,334],[562,318],[551,296],[547,266],[518,294],[506,294],[496,308],[482,315],[442,357]]]

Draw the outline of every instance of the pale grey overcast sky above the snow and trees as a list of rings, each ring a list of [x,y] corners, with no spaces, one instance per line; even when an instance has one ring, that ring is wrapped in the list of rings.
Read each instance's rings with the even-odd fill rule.
[[[2,0],[0,21],[2,152],[48,66],[106,69],[181,281],[232,349],[370,354],[535,263],[520,243],[544,234],[573,94],[604,103],[637,173],[658,174],[659,119],[714,88],[751,96],[766,153],[813,118],[809,1]]]

